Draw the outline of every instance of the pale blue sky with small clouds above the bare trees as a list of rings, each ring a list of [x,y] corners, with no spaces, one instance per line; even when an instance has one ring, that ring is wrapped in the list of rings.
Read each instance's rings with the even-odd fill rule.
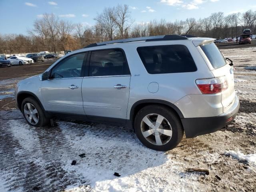
[[[130,6],[135,23],[161,18],[167,21],[204,18],[213,12],[256,10],[256,1],[241,0],[0,0],[0,34],[27,34],[33,21],[44,13],[54,13],[61,19],[93,25],[93,18],[104,7],[117,4]]]

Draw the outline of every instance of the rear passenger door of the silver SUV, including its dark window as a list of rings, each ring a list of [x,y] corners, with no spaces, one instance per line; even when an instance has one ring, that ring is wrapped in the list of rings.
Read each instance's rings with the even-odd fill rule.
[[[87,118],[126,119],[131,75],[124,51],[97,50],[89,55],[88,73],[82,82]]]

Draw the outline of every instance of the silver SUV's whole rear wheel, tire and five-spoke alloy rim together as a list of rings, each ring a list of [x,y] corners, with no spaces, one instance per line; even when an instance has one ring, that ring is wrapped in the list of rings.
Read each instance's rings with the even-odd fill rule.
[[[134,129],[142,144],[159,151],[175,148],[184,134],[180,118],[169,108],[158,105],[142,108],[136,114]]]

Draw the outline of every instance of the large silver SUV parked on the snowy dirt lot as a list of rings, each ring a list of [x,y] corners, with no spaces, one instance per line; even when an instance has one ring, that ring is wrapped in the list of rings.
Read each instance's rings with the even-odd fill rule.
[[[20,81],[28,124],[54,116],[134,128],[154,150],[225,128],[236,117],[232,62],[212,38],[150,36],[91,44]]]

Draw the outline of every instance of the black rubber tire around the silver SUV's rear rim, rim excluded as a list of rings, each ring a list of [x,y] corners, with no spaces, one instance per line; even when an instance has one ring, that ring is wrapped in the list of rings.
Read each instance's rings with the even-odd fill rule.
[[[169,142],[159,146],[156,144],[152,144],[151,142],[146,140],[146,138],[144,138],[141,130],[141,122],[142,122],[142,119],[148,114],[159,114],[164,118],[166,118],[166,120],[170,123],[172,128],[172,136]],[[146,147],[150,149],[154,149],[158,151],[168,151],[175,148],[182,140],[182,137],[184,134],[184,129],[182,127],[180,118],[174,112],[172,112],[172,110],[161,105],[149,105],[142,108],[136,114],[136,117],[134,120],[134,130],[138,139],[140,140],[140,142],[142,142],[142,144],[144,144]]]

